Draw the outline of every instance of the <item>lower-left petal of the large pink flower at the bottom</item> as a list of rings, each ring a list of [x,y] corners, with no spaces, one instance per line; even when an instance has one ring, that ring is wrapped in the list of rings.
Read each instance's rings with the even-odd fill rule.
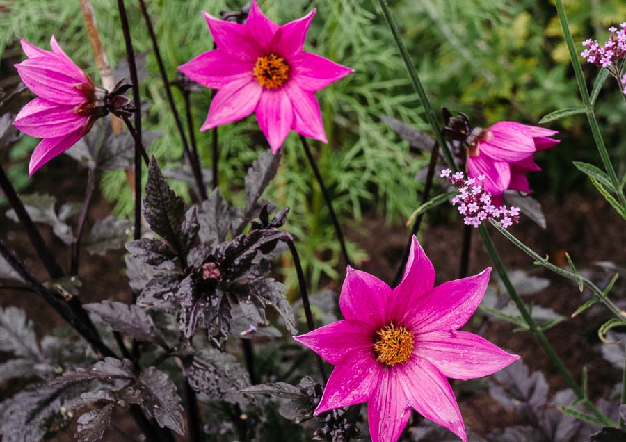
[[[374,352],[358,350],[346,354],[332,370],[314,414],[366,402],[378,386],[382,373]]]

